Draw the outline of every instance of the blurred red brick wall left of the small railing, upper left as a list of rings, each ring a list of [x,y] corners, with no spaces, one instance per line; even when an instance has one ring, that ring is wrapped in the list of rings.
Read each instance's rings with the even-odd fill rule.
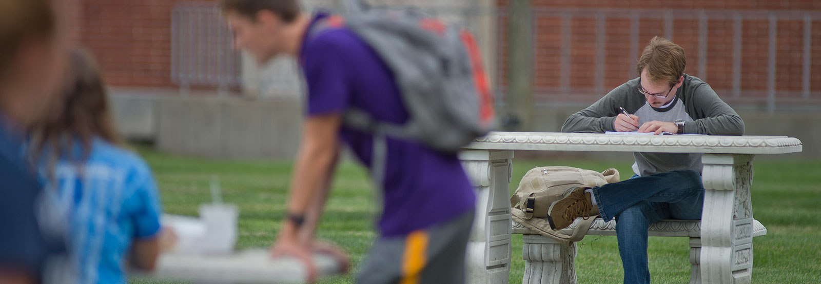
[[[175,86],[170,76],[171,15],[174,4],[183,1],[70,1],[80,27],[77,37],[94,52],[109,85]]]

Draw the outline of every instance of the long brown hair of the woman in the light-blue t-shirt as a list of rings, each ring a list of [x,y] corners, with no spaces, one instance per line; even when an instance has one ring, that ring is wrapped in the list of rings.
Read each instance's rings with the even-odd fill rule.
[[[70,154],[76,141],[82,144],[80,156],[68,158],[77,163],[88,158],[94,137],[112,144],[122,144],[108,108],[105,84],[94,58],[84,50],[72,51],[68,72],[68,84],[64,94],[54,103],[53,115],[37,123],[31,131],[32,162],[46,162],[48,169],[61,155]],[[48,157],[43,157],[47,147]],[[48,160],[41,161],[41,158]]]

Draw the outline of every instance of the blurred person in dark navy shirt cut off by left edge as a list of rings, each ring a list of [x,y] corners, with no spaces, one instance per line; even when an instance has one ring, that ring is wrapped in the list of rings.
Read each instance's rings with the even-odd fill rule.
[[[65,71],[62,16],[49,0],[0,0],[0,283],[64,282],[63,232],[25,164],[24,140]]]

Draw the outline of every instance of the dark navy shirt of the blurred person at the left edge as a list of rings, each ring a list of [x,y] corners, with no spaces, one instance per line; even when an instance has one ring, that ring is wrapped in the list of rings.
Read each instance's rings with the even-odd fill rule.
[[[65,235],[42,222],[56,213],[44,203],[43,187],[23,157],[22,132],[14,128],[0,113],[0,268],[55,277],[46,267],[66,259]]]

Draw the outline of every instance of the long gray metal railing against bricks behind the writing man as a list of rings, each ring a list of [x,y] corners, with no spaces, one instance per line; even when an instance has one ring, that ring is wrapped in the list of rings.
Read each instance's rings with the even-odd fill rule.
[[[641,35],[649,34],[647,30],[661,30],[661,33],[654,35],[662,35],[667,39],[672,39],[673,42],[678,43],[679,37],[694,38],[695,48],[690,46],[686,48],[688,57],[688,66],[686,72],[693,76],[699,76],[710,83],[711,75],[709,71],[709,63],[711,54],[709,53],[709,45],[711,41],[718,41],[718,45],[724,44],[726,39],[723,35],[710,34],[711,29],[716,30],[732,30],[729,36],[732,37],[731,48],[728,48],[724,54],[730,54],[731,58],[718,58],[721,62],[729,62],[730,70],[729,78],[732,82],[728,88],[713,88],[725,100],[734,101],[738,103],[764,103],[766,108],[772,112],[776,105],[783,104],[819,104],[821,103],[821,89],[811,89],[813,84],[821,79],[821,74],[813,74],[812,71],[812,27],[813,23],[821,21],[821,11],[705,11],[705,10],[667,10],[667,9],[619,9],[619,8],[557,8],[544,7],[534,8],[532,11],[532,27],[534,32],[534,98],[537,102],[561,102],[565,100],[585,100],[592,101],[596,98],[601,98],[609,89],[617,85],[605,85],[605,78],[611,79],[613,76],[607,74],[606,71],[623,71],[623,80],[630,80],[636,77],[635,61],[644,48],[644,44],[649,41],[640,38]],[[543,34],[556,33],[555,30],[546,30],[554,28],[555,25],[539,25],[544,21],[558,21],[558,34],[555,38],[559,43],[559,60],[557,65],[545,66],[540,63],[540,58],[547,53],[555,54],[555,51],[545,50],[540,46],[539,37]],[[625,26],[608,25],[609,21],[616,20],[626,23]],[[587,23],[585,23],[587,21]],[[656,21],[661,22],[661,29],[658,27],[646,27],[641,25],[642,21]],[[695,27],[692,25],[677,29],[675,23],[677,22],[695,22]],[[728,21],[732,22],[732,29],[727,29],[724,24]],[[760,22],[766,21],[766,28],[761,29]],[[592,23],[591,23],[592,22]],[[802,25],[801,34],[788,33],[786,35],[779,34],[779,23],[793,24],[800,22]],[[745,24],[750,23],[750,27],[745,27]],[[576,37],[579,33],[574,30],[576,26],[581,25],[583,28],[594,26],[592,33],[594,41],[594,58],[592,66],[586,66],[589,71],[593,73],[592,80],[589,81],[588,87],[580,87],[571,78],[574,74],[571,72],[574,68],[580,68],[578,63],[573,63],[574,60],[579,59],[571,55],[574,51],[574,42],[577,42]],[[585,25],[587,24],[587,25]],[[721,26],[718,26],[721,25]],[[501,25],[500,25],[501,26]],[[691,31],[690,28],[695,28]],[[747,29],[747,30],[745,30]],[[627,30],[627,33],[623,33]],[[796,29],[793,29],[796,30]],[[611,34],[611,31],[621,31],[621,33]],[[503,32],[503,30],[502,30]],[[713,30],[715,32],[715,30]],[[746,32],[746,34],[745,34]],[[582,34],[590,34],[590,30],[580,31]],[[652,33],[650,33],[652,34]],[[745,47],[745,41],[757,43],[766,37],[766,88],[748,88],[742,84],[742,76],[749,74],[750,70],[743,70],[742,65],[745,60],[745,53],[742,48]],[[796,38],[798,37],[798,38]],[[629,42],[629,47],[624,48],[624,44],[613,44],[614,39],[624,40]],[[800,45],[778,44],[778,40],[800,41]],[[722,45],[723,46],[723,45]],[[758,47],[759,49],[763,49]],[[506,48],[499,48],[497,56],[504,57]],[[626,50],[625,50],[626,49]],[[614,52],[621,51],[621,52]],[[792,56],[779,56],[780,54],[790,53]],[[794,56],[800,54],[800,57]],[[608,56],[623,57],[627,60],[622,60],[624,63],[608,62]],[[692,59],[690,59],[692,58]],[[761,59],[761,58],[759,58]],[[818,58],[821,59],[821,58]],[[816,60],[818,60],[816,59]],[[778,64],[777,60],[787,61],[787,64]],[[611,60],[612,61],[612,60]],[[607,63],[606,63],[607,62]],[[695,65],[690,65],[690,62],[695,62]],[[782,62],[783,63],[783,62]],[[608,66],[606,66],[606,64]],[[612,65],[617,66],[612,66]],[[781,66],[781,67],[780,67]],[[777,85],[777,74],[787,71],[783,66],[800,66],[800,90],[795,88],[782,88]],[[558,73],[559,78],[557,84],[546,83],[540,81],[540,72]],[[795,71],[791,72],[795,73]],[[502,75],[503,76],[503,75]],[[723,75],[722,75],[723,76]],[[791,80],[796,80],[791,79]],[[814,83],[814,80],[816,83]],[[502,82],[502,80],[499,80]],[[749,81],[749,80],[748,80]],[[782,80],[783,81],[783,80]],[[721,82],[724,83],[724,82]],[[727,85],[727,84],[719,84]],[[505,88],[502,87],[502,92]]]

